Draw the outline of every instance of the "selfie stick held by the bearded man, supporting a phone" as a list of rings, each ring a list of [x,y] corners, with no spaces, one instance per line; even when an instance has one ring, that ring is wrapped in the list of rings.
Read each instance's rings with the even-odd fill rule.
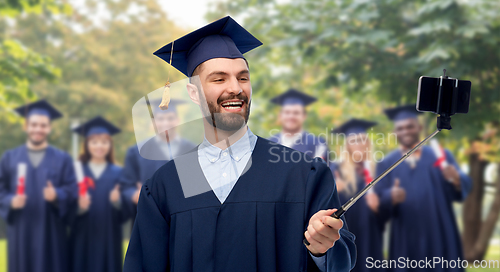
[[[446,69],[444,69],[443,71],[444,71],[444,75],[440,77],[441,81],[440,81],[440,86],[439,86],[437,112],[440,112],[440,103],[439,102],[441,101],[441,94],[442,94],[442,82],[443,82],[442,80],[448,78],[448,76],[446,76]],[[456,105],[456,101],[457,101],[456,94],[455,94],[456,93],[455,90],[456,90],[457,86],[458,86],[458,80],[457,80],[457,85],[454,86],[454,92],[453,92],[453,97],[452,97],[453,107]],[[397,162],[395,162],[393,165],[391,165],[389,168],[387,168],[377,178],[375,178],[370,183],[368,183],[368,185],[366,185],[365,188],[363,188],[363,190],[359,191],[356,195],[354,195],[351,199],[349,199],[344,205],[342,205],[342,207],[340,209],[338,209],[336,212],[334,212],[332,214],[332,217],[336,218],[336,219],[340,219],[340,217],[345,212],[347,212],[349,210],[349,208],[351,208],[352,205],[354,205],[354,203],[356,203],[361,197],[363,197],[382,178],[384,178],[385,176],[387,176],[387,174],[389,174],[392,170],[394,170],[394,168],[396,168],[404,160],[406,160],[411,154],[413,154],[413,152],[415,152],[417,149],[419,149],[420,146],[422,146],[427,141],[432,139],[432,137],[436,136],[436,134],[438,134],[442,129],[450,130],[451,129],[450,121],[451,121],[451,116],[449,114],[440,114],[440,116],[438,116],[438,118],[437,118],[438,123],[437,123],[437,130],[436,131],[434,131],[431,135],[427,136],[427,138],[425,138],[423,141],[418,143],[414,148],[410,149],[410,151],[406,152],[406,154],[404,154]],[[309,245],[309,241],[307,241],[306,238],[304,238],[303,243],[306,246]]]

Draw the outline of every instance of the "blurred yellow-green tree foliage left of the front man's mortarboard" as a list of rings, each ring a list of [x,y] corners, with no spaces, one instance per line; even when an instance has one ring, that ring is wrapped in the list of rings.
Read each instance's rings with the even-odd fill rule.
[[[73,119],[103,115],[123,130],[115,137],[121,163],[135,143],[132,106],[167,81],[168,65],[152,53],[185,31],[154,0],[86,1],[73,9],[67,16],[41,13],[18,20],[19,39],[62,71],[58,82],[33,89],[65,114],[54,123],[51,139],[57,146],[70,150]],[[181,74],[172,70],[170,77],[175,81]]]

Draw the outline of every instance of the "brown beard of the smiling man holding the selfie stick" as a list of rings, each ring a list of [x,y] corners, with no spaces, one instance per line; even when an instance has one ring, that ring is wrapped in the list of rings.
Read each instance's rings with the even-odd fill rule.
[[[200,96],[203,97],[203,96]],[[238,99],[244,101],[244,105],[246,105],[246,112],[243,113],[230,113],[224,112],[222,113],[222,106],[220,104],[223,101]],[[248,97],[243,93],[240,93],[235,96],[230,97],[219,97],[217,99],[217,103],[207,102],[205,97],[202,98],[202,111],[205,119],[209,124],[211,124],[214,128],[224,130],[224,131],[236,131],[242,128],[247,122],[248,117],[250,116],[250,106],[251,101],[248,101]],[[242,109],[243,109],[242,106]]]

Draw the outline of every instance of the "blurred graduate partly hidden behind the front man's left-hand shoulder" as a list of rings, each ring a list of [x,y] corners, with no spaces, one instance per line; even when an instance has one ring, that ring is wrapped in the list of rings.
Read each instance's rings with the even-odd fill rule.
[[[125,157],[123,172],[120,177],[124,206],[131,214],[132,222],[137,211],[140,188],[162,165],[195,147],[190,141],[181,138],[176,127],[180,123],[177,107],[186,103],[184,100],[171,99],[167,110],[161,110],[161,99],[150,101],[154,114],[154,126],[157,135],[138,145],[131,146]]]

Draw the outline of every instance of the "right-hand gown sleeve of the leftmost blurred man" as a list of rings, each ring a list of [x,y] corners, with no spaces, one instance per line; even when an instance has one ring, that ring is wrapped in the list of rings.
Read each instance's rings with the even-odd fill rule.
[[[73,161],[68,154],[64,155],[62,181],[61,184],[56,187],[56,192],[59,216],[64,217],[73,209],[74,202],[78,197],[78,186],[76,183]]]

